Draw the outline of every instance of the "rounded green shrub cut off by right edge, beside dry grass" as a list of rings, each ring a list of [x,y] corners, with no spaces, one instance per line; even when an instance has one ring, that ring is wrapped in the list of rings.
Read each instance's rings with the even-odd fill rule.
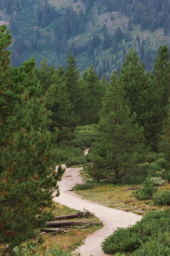
[[[170,205],[170,191],[160,190],[153,196],[154,205]]]

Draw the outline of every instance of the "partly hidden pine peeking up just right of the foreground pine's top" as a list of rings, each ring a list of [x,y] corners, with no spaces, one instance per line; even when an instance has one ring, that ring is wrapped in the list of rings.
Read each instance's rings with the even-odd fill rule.
[[[42,95],[44,95],[51,84],[51,77],[54,74],[54,67],[48,67],[48,62],[46,58],[42,59],[40,62],[41,66],[36,71],[36,77],[39,79],[41,88],[42,88]]]

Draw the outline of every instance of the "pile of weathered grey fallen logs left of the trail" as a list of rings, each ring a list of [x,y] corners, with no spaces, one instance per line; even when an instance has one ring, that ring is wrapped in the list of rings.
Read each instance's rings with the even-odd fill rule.
[[[62,215],[62,216],[55,216],[54,219],[55,220],[61,220],[61,219],[72,219],[72,218],[77,218],[77,217],[83,217],[88,215],[90,212],[85,211],[85,212],[81,212],[81,213],[73,213],[73,214],[69,214],[69,215]],[[82,226],[82,224],[85,224]],[[40,229],[40,234],[41,235],[46,235],[46,233],[50,233],[50,234],[56,234],[56,233],[66,233],[68,231],[70,231],[70,227],[72,229],[74,228],[78,228],[78,229],[83,229],[87,226],[90,225],[101,225],[101,222],[92,222],[92,221],[87,221],[87,220],[77,220],[77,221],[50,221],[50,222],[46,222],[46,226],[47,227],[60,227],[57,229]],[[74,226],[78,226],[81,225],[80,227],[74,227]],[[66,228],[66,229],[61,229],[61,227]],[[69,229],[68,229],[69,228]]]

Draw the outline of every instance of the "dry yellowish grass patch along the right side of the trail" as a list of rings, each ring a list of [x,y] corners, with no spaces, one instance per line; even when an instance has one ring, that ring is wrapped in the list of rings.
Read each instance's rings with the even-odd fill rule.
[[[150,210],[155,211],[165,208],[154,206],[152,200],[138,201],[132,195],[131,190],[126,190],[128,187],[128,185],[101,184],[93,189],[78,190],[76,193],[84,199],[89,199],[125,212],[133,212],[138,215],[144,215]],[[162,188],[170,188],[170,185],[166,184]]]

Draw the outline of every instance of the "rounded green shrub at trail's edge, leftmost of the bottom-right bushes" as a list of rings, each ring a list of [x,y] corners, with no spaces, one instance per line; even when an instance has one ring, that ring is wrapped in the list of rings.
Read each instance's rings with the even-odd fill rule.
[[[101,247],[105,253],[134,251],[141,245],[140,234],[133,232],[132,227],[118,228],[112,235],[102,242]]]

